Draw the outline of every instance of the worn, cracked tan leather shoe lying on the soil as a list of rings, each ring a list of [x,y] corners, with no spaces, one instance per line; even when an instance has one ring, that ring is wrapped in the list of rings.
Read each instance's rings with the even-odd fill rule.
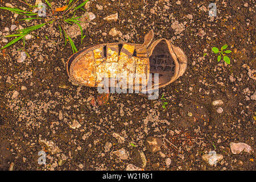
[[[158,88],[171,84],[183,75],[187,68],[187,57],[170,40],[159,39],[153,42],[154,32],[151,30],[145,36],[143,44],[106,43],[90,46],[73,54],[67,62],[68,76],[73,82],[85,86],[102,86],[105,77],[118,77],[119,74],[144,75],[143,78],[126,78],[128,83],[146,86],[152,73],[152,87]],[[154,75],[159,74],[159,82],[154,81]],[[120,78],[115,84],[122,80]],[[146,85],[143,85],[146,84]],[[122,89],[127,89],[124,85]]]

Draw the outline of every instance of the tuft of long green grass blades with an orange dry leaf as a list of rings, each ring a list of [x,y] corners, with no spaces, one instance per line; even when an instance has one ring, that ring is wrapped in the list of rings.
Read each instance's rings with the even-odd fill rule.
[[[82,7],[89,0],[86,0],[86,1],[82,2],[78,6],[76,6],[76,3],[79,0],[77,0],[77,1],[69,0],[69,1],[66,1],[65,6],[59,7],[55,10],[53,10],[53,7],[51,5],[52,3],[45,0],[47,5],[51,9],[50,13],[46,13],[46,18],[43,18],[43,17],[41,18],[41,17],[39,17],[38,13],[33,13],[34,9],[39,10],[39,6],[32,6],[32,5],[28,4],[26,0],[25,0],[25,2],[23,2],[21,0],[18,0],[18,1],[24,3],[27,6],[29,6],[30,10],[24,11],[24,10],[18,9],[16,7],[14,7],[14,8],[0,7],[0,9],[8,10],[8,11],[11,11],[13,13],[23,15],[24,18],[20,19],[20,20],[30,21],[30,20],[39,20],[40,19],[40,20],[43,20],[43,23],[36,24],[35,26],[31,26],[31,27],[27,27],[27,28],[22,28],[20,30],[16,30],[15,34],[4,36],[6,38],[9,38],[9,37],[16,37],[16,38],[11,40],[9,43],[7,43],[5,46],[3,46],[1,49],[4,49],[6,47],[9,47],[9,46],[13,45],[14,43],[18,42],[20,39],[23,39],[23,42],[24,42],[24,38],[26,37],[26,35],[31,34],[32,31],[39,30],[40,28],[46,26],[47,24],[55,23],[59,27],[60,36],[61,35],[64,36],[64,41],[65,41],[64,47],[66,46],[67,42],[69,42],[69,44],[71,45],[73,53],[77,52],[77,48],[76,48],[75,44],[73,43],[73,40],[71,39],[71,37],[65,31],[63,24],[64,23],[69,23],[69,24],[74,24],[75,23],[75,24],[77,24],[77,26],[79,26],[80,31],[81,31],[81,44],[82,44],[82,40],[85,38],[85,35],[83,35],[83,33],[82,33],[82,27],[81,27],[81,24],[80,24],[81,21],[78,20],[79,18],[81,18],[81,16],[75,17],[75,15],[76,15],[77,10],[79,10],[79,9],[85,11],[84,9],[82,9]],[[61,32],[63,32],[63,34],[61,34]],[[49,39],[47,35],[45,37],[46,37],[47,40]]]

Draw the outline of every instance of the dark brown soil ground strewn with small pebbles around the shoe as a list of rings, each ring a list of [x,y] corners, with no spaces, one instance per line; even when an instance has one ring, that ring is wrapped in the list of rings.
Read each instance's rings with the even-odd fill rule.
[[[53,2],[53,8],[65,3]],[[65,63],[73,52],[69,44],[63,48],[54,24],[33,32],[23,50],[18,50],[22,41],[1,50],[0,169],[13,165],[14,170],[125,170],[128,164],[143,167],[138,156],[143,151],[146,171],[255,170],[255,1],[216,0],[216,17],[208,15],[211,2],[98,0],[85,7],[96,18],[87,24],[82,45],[80,36],[73,39],[78,50],[100,43],[143,43],[151,29],[155,39],[170,39],[184,50],[187,71],[159,90],[168,102],[166,109],[161,100],[141,94],[111,94],[106,105],[94,107],[90,100],[97,90],[69,81]],[[16,0],[1,0],[0,6],[6,3],[30,10]],[[115,13],[117,22],[104,20]],[[40,22],[18,21],[22,18],[0,10],[0,36],[13,34],[12,24]],[[122,34],[109,35],[114,27]],[[6,44],[3,39],[1,47]],[[211,49],[224,44],[232,51],[230,65],[217,62]],[[18,63],[24,50],[30,57]],[[216,100],[223,104],[213,106]],[[81,126],[72,129],[74,121]],[[160,151],[147,150],[147,137],[162,140]],[[252,150],[232,154],[230,142],[246,143]],[[121,148],[127,158],[115,155]],[[39,151],[46,152],[45,165],[38,164]],[[223,156],[214,166],[202,159],[210,151]]]

